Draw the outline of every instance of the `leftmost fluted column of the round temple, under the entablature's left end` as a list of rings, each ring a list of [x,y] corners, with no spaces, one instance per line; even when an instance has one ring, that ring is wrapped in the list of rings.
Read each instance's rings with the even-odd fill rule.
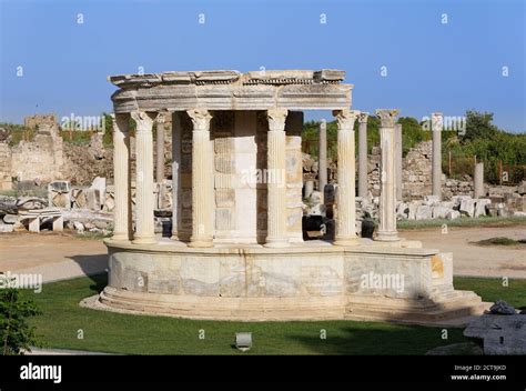
[[[113,114],[113,240],[131,240],[131,183],[129,114]]]

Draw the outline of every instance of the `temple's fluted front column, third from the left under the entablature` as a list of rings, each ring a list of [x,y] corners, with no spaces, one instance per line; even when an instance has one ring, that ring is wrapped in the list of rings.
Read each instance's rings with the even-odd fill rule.
[[[213,247],[213,151],[208,110],[188,110],[192,130],[192,237],[190,247]]]

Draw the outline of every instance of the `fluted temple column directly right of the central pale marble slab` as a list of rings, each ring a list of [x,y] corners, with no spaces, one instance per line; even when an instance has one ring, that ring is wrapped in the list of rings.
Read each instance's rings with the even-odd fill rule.
[[[267,235],[265,247],[287,247],[286,232],[286,183],[285,172],[285,120],[286,109],[274,108],[266,112],[269,119],[267,138]]]

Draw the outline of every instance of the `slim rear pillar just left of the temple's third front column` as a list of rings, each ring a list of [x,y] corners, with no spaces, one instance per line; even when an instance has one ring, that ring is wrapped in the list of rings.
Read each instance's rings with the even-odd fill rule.
[[[181,220],[181,113],[172,113],[172,240],[179,240],[179,224]]]

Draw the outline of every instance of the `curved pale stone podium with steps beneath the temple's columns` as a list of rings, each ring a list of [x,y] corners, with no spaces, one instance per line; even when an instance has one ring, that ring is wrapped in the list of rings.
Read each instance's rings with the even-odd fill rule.
[[[105,243],[110,279],[100,302],[107,309],[216,320],[465,324],[485,308],[475,293],[453,289],[451,254],[409,248],[418,243],[310,242],[287,249]],[[383,285],[374,283],[378,275]],[[385,285],[396,277],[402,283]]]

